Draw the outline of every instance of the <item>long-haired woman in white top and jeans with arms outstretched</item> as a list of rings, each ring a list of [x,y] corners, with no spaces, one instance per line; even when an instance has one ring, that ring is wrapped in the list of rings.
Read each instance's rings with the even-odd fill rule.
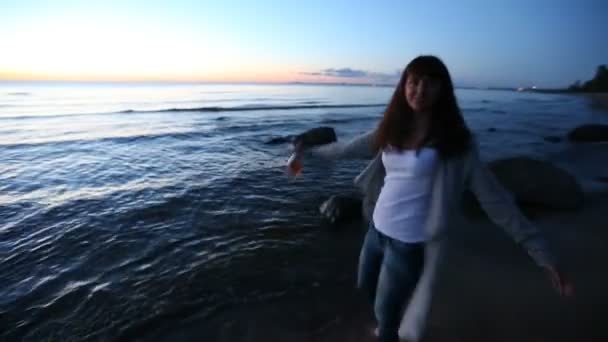
[[[303,152],[296,145],[296,153]],[[408,340],[421,337],[443,233],[467,189],[547,270],[560,294],[571,292],[538,230],[480,161],[449,72],[437,57],[420,56],[408,64],[377,129],[310,152],[373,158],[355,179],[369,219],[358,286],[374,304],[380,341],[398,341],[400,326]]]

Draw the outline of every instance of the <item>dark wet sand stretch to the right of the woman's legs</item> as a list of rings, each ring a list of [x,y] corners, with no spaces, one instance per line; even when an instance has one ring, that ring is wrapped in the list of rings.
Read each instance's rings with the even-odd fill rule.
[[[428,341],[607,341],[608,195],[577,212],[537,213],[575,285],[563,300],[500,228],[477,220],[452,234]],[[454,232],[455,233],[455,232]]]

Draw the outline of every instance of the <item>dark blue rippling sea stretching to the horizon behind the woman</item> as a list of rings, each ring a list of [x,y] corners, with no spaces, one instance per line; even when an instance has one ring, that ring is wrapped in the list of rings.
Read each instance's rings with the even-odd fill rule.
[[[365,161],[311,159],[293,178],[288,141],[320,126],[347,141],[376,127],[392,93],[0,82],[0,340],[156,340],[185,321],[204,334],[219,312],[354,287],[356,260],[333,257],[343,238],[319,205],[356,194]],[[605,145],[566,137],[608,123],[589,98],[456,95],[484,159],[547,160],[591,190],[608,176]]]

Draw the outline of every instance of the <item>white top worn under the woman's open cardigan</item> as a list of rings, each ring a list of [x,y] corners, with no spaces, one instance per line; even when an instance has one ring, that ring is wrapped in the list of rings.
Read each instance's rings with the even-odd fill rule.
[[[424,147],[417,154],[389,148],[382,152],[382,163],[386,176],[374,208],[374,226],[399,241],[425,241],[424,225],[439,165],[437,151]]]

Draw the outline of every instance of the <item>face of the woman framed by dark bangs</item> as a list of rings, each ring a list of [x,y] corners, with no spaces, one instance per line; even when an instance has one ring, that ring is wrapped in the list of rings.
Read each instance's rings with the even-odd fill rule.
[[[428,76],[408,74],[405,82],[405,98],[414,112],[426,112],[439,98],[441,81]]]

